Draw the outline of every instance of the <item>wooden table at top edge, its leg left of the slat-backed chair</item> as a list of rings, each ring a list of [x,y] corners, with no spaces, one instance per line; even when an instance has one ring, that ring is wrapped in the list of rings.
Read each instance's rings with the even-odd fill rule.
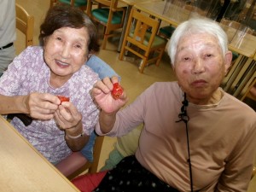
[[[163,2],[164,0],[119,0],[119,2],[127,4],[127,9],[126,9],[126,13],[125,13],[124,26],[123,26],[123,30],[122,30],[120,41],[119,41],[118,52],[120,52],[120,50],[122,48],[122,43],[123,43],[123,40],[125,38],[125,30],[126,30],[126,26],[127,26],[127,22],[128,22],[128,19],[129,19],[129,15],[130,15],[132,6],[134,6],[137,3],[151,3],[151,4],[154,4],[154,2],[159,2],[159,1]]]

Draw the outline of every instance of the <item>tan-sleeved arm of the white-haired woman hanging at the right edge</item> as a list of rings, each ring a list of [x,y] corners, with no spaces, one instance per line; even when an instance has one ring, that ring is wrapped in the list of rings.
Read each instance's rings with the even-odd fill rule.
[[[230,154],[224,172],[218,180],[216,191],[247,191],[253,173],[253,157],[256,152],[255,135],[254,123],[253,128],[247,131],[245,137],[237,143],[236,148]]]

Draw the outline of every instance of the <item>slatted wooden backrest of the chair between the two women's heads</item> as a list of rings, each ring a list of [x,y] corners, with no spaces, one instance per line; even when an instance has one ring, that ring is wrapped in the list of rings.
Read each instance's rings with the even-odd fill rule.
[[[150,49],[159,26],[160,22],[158,20],[143,15],[137,9],[131,9],[131,18],[127,25],[127,29],[130,29],[130,35],[127,39],[141,49]],[[149,31],[150,35],[148,37]]]

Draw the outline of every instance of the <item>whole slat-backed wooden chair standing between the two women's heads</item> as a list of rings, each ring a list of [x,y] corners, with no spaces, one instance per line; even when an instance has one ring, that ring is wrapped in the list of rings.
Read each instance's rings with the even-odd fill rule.
[[[143,59],[139,67],[140,73],[143,73],[144,67],[148,63],[155,61],[156,66],[159,66],[167,43],[166,38],[156,34],[159,26],[159,20],[143,15],[137,9],[131,9],[119,59],[122,60],[125,51],[128,50]],[[131,46],[133,47],[131,48]],[[155,53],[157,54],[155,55]],[[149,58],[149,55],[152,57]]]

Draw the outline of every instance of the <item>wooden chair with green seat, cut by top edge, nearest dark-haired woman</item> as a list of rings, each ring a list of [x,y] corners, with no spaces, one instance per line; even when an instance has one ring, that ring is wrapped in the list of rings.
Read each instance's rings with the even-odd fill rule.
[[[91,4],[88,4],[87,14],[96,23],[104,26],[104,38],[102,49],[106,49],[108,38],[113,37],[113,31],[120,29],[124,25],[125,7],[118,7],[118,0],[94,0],[99,7],[91,9]]]

